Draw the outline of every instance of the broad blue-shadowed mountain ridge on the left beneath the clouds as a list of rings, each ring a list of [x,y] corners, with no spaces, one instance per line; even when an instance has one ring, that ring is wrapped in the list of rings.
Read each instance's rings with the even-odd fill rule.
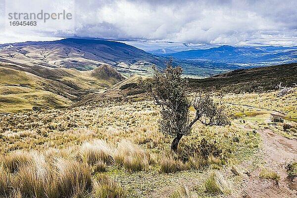
[[[46,42],[24,42],[0,45],[0,57],[36,61],[47,67],[90,70],[102,63],[126,68],[143,62],[163,67],[164,61],[133,46],[104,40],[62,39]],[[2,60],[3,61],[3,60]],[[146,70],[148,68],[142,67]]]

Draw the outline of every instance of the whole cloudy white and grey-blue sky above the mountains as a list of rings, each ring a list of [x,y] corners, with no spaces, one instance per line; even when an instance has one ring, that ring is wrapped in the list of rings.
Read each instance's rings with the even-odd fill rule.
[[[9,12],[41,9],[66,10],[73,19],[9,26]],[[0,43],[83,37],[142,48],[297,46],[297,0],[0,0],[0,19]]]

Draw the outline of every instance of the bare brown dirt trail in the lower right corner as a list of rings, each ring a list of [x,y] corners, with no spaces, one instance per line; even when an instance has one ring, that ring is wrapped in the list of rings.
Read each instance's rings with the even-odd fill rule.
[[[244,198],[297,198],[297,182],[287,178],[286,165],[297,161],[297,141],[289,140],[270,129],[258,130],[263,140],[264,167],[275,170],[281,177],[279,186],[275,182],[259,178],[262,168],[250,173],[244,181]]]

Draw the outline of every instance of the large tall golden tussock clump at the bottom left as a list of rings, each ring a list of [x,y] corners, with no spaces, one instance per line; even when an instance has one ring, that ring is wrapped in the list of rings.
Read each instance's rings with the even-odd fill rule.
[[[38,152],[30,154],[30,161],[17,167],[15,174],[7,174],[13,177],[13,183],[9,184],[14,192],[13,197],[81,198],[92,191],[91,168],[88,164]],[[1,171],[1,174],[5,172]],[[9,182],[3,181],[6,184]]]

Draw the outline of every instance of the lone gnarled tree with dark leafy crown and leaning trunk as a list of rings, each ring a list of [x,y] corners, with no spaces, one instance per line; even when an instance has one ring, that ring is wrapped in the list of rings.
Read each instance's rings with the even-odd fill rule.
[[[174,137],[171,149],[176,153],[181,138],[191,133],[192,126],[197,121],[208,126],[223,126],[230,121],[223,113],[223,108],[209,95],[200,94],[193,100],[188,99],[186,94],[188,81],[181,77],[182,67],[172,67],[171,63],[170,60],[164,71],[154,68],[154,76],[146,81],[141,80],[141,85],[161,106],[159,129],[164,134]],[[191,106],[196,110],[193,120],[189,116]]]

